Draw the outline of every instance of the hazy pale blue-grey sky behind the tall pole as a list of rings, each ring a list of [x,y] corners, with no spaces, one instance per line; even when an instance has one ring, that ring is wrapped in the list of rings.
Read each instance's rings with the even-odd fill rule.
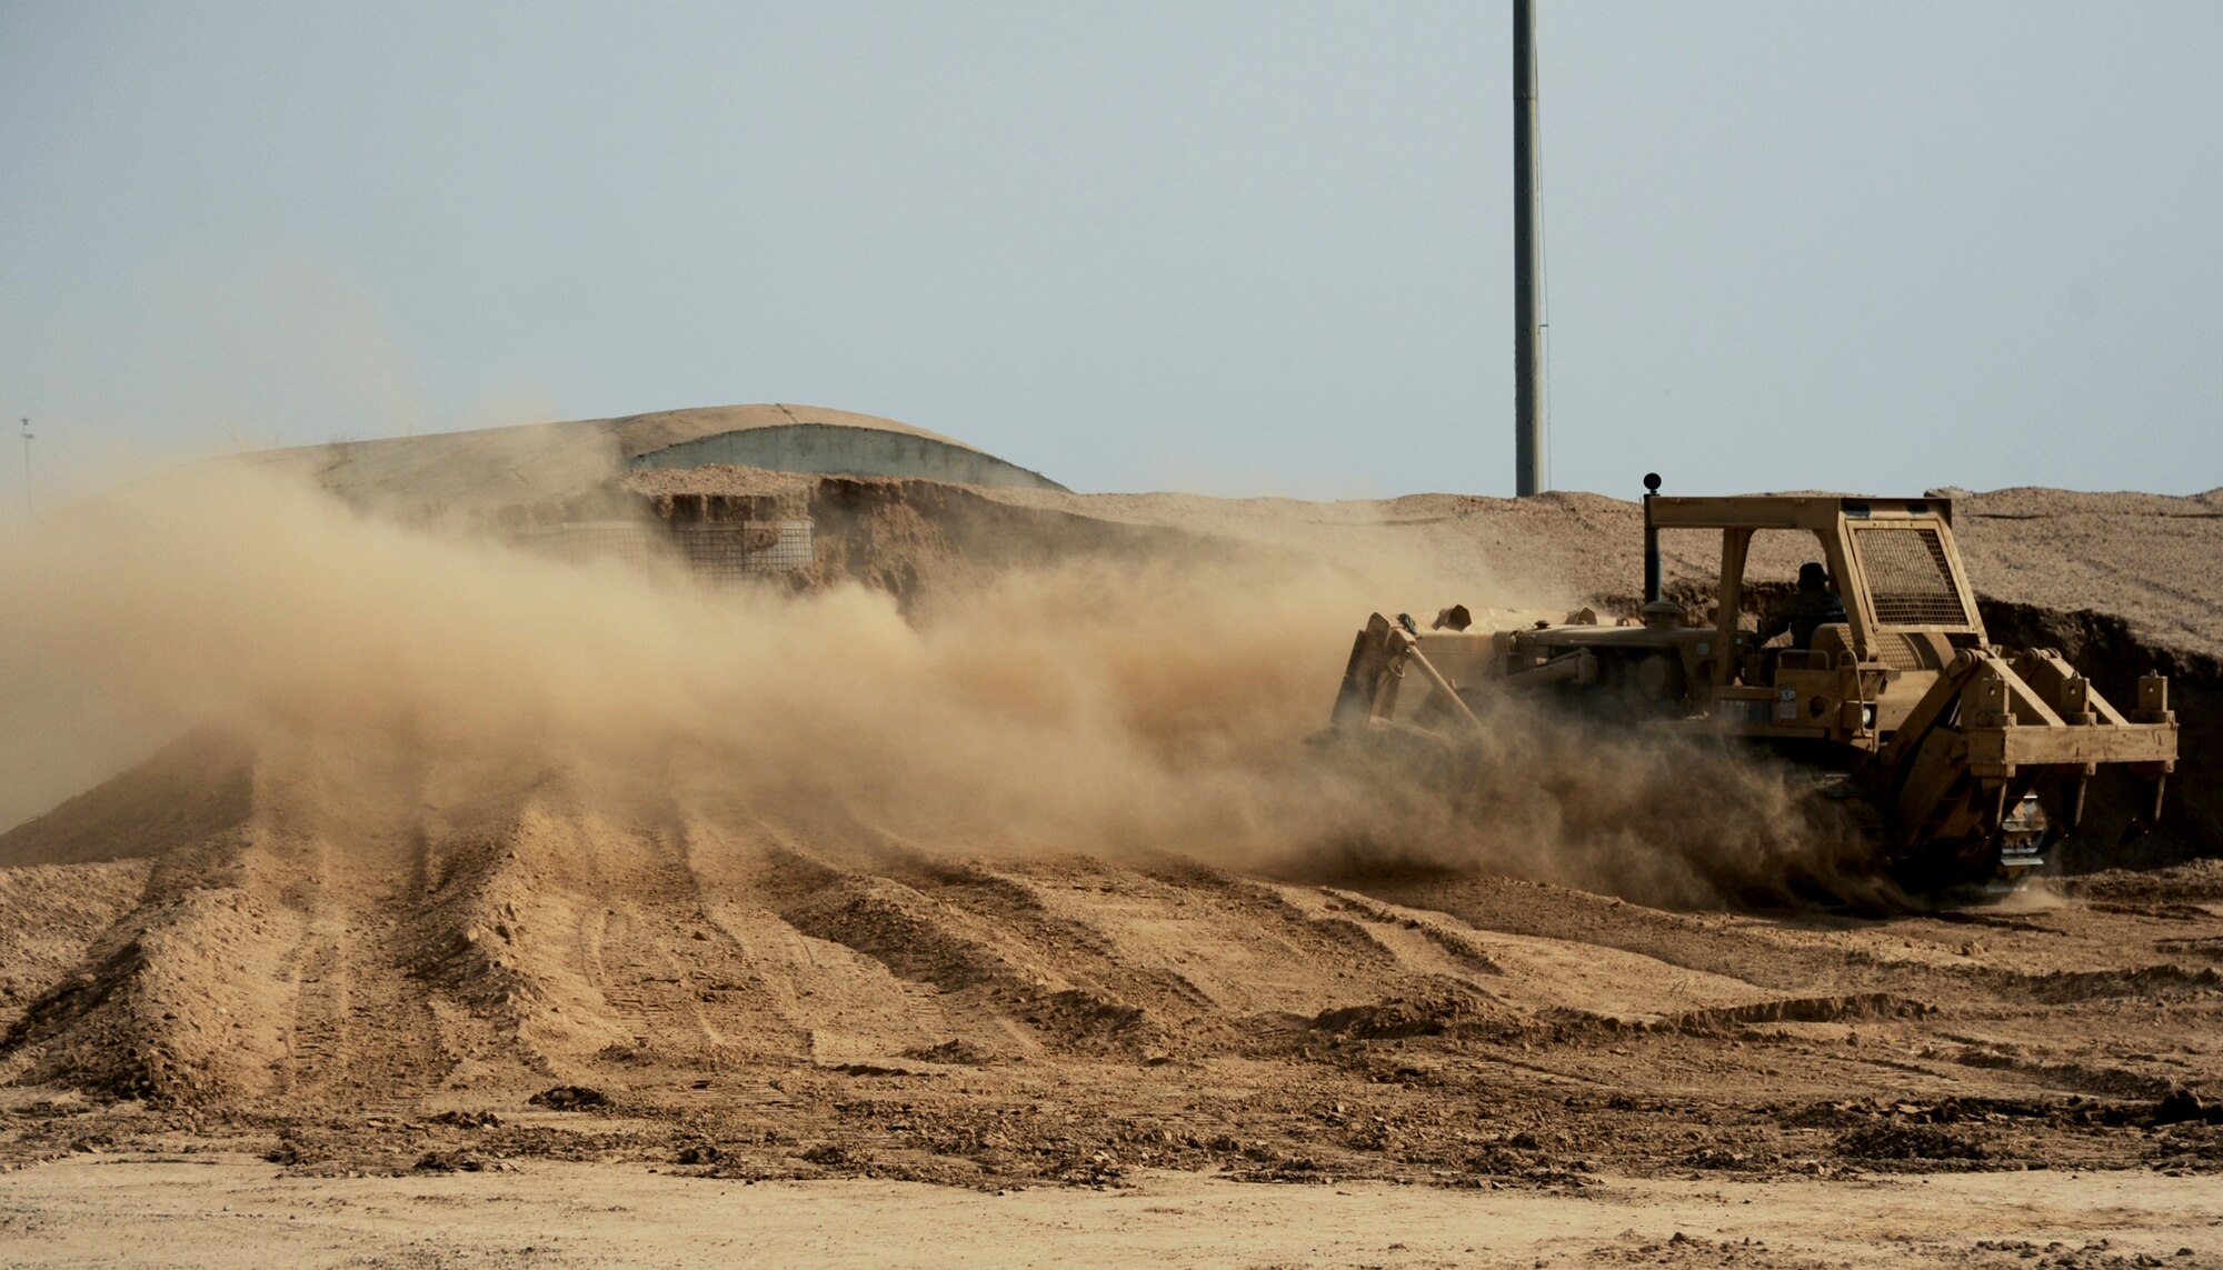
[[[1538,0],[1554,488],[2223,486],[2223,4]],[[1509,495],[1512,16],[0,0],[0,497],[736,402]]]

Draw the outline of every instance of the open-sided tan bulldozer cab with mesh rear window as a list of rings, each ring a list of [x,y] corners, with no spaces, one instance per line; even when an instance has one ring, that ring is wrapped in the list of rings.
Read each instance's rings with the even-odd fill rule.
[[[1961,648],[1985,644],[1983,617],[1952,537],[1952,500],[1874,500],[1836,495],[1663,497],[1645,500],[1647,528],[1721,531],[1716,688],[1774,684],[1785,673],[1881,664],[1901,673],[1943,671]],[[1761,531],[1812,533],[1843,602],[1843,622],[1814,633],[1807,648],[1761,655],[1738,631],[1752,555]]]

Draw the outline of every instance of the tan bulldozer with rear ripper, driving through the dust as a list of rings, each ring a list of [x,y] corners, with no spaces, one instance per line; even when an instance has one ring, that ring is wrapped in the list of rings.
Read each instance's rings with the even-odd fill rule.
[[[1665,497],[1645,475],[1645,591],[1634,617],[1476,631],[1465,606],[1429,631],[1374,613],[1352,644],[1327,739],[1456,746],[1487,733],[1485,695],[1536,695],[1605,726],[1732,737],[1810,770],[1858,808],[1867,853],[1923,893],[2012,890],[2083,819],[2101,768],[2145,782],[2161,815],[2176,766],[2163,675],[2121,710],[2052,648],[1990,642],[1961,566],[1950,497]],[[1661,588],[1661,531],[1718,531],[1709,619]],[[1747,628],[1752,542],[1812,535],[1807,622]],[[1816,568],[1818,566],[1818,568]],[[1818,602],[1821,599],[1821,602]],[[1781,626],[1783,622],[1776,622]]]

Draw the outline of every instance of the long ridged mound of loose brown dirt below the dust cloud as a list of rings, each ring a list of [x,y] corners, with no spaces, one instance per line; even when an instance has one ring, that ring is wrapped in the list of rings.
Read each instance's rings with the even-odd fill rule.
[[[180,773],[129,788],[158,775]],[[965,861],[742,806],[618,822],[554,782],[373,819],[302,802],[320,777],[302,753],[238,773],[245,815],[44,968],[16,1070],[382,1106],[611,1070],[1205,1059],[1272,1050],[1260,1017],[1372,1039],[1565,1004],[1492,988],[1521,941],[1194,864]]]

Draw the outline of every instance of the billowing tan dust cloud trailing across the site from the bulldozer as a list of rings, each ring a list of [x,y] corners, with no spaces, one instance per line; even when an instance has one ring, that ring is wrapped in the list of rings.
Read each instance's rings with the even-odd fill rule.
[[[611,819],[745,806],[931,850],[1498,870],[1665,904],[1814,857],[1785,773],[1509,702],[1452,799],[1305,746],[1383,595],[1438,599],[1409,566],[1080,557],[914,624],[860,586],[549,560],[205,468],[11,542],[0,593],[0,824],[205,728],[313,755],[322,775],[258,797],[327,824],[558,784]]]

